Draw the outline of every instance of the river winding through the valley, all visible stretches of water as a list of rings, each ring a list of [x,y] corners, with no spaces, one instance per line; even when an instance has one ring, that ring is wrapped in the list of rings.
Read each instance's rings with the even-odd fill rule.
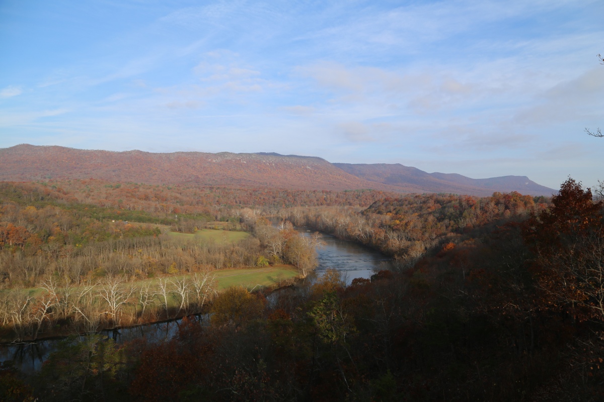
[[[303,236],[310,236],[314,230],[296,227]],[[340,240],[331,234],[323,233],[322,247],[316,249],[319,266],[314,274],[308,278],[310,283],[320,278],[327,269],[335,268],[342,272],[346,284],[354,278],[370,278],[380,269],[390,267],[390,259],[384,254],[371,250],[357,243]],[[208,316],[199,316],[202,322],[209,322]],[[139,327],[121,328],[115,331],[102,331],[101,334],[113,338],[115,342],[127,342],[137,338],[147,338],[151,341],[170,339],[178,333],[180,320],[156,322],[154,324],[140,325]],[[56,348],[60,339],[27,342],[22,344],[0,345],[0,362],[12,360],[21,371],[32,373],[42,367],[42,362]]]

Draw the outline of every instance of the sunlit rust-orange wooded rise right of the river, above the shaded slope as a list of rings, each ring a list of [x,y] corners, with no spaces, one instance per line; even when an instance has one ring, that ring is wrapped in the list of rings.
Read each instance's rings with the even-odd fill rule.
[[[375,201],[367,209],[312,207],[284,209],[281,215],[341,239],[362,243],[388,256],[399,267],[413,266],[428,251],[464,235],[479,236],[506,221],[526,219],[548,206],[545,197],[517,192],[490,197],[450,194],[405,195]]]

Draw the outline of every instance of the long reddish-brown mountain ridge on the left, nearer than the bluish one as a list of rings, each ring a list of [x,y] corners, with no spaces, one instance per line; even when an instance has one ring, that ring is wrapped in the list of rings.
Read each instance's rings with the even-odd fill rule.
[[[31,181],[49,178],[400,192],[399,187],[358,178],[318,157],[230,152],[113,152],[28,144],[0,149],[0,180]]]

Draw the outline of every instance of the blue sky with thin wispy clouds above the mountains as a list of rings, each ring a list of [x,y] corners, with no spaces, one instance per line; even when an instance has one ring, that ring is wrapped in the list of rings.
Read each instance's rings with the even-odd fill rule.
[[[0,148],[604,180],[604,1],[0,1]]]

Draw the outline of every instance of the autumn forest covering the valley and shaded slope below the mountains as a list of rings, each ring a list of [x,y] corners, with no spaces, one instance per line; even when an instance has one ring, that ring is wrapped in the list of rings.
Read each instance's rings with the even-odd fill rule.
[[[604,398],[603,205],[580,183],[551,199],[273,191],[2,184],[2,334],[88,333],[29,377],[2,366],[4,389],[44,401]],[[216,219],[250,237],[183,243],[161,229],[187,236]],[[312,277],[320,236],[289,222],[393,263],[349,286],[336,270],[272,294],[216,286],[229,267]],[[175,316],[188,318],[162,341],[94,334]]]

